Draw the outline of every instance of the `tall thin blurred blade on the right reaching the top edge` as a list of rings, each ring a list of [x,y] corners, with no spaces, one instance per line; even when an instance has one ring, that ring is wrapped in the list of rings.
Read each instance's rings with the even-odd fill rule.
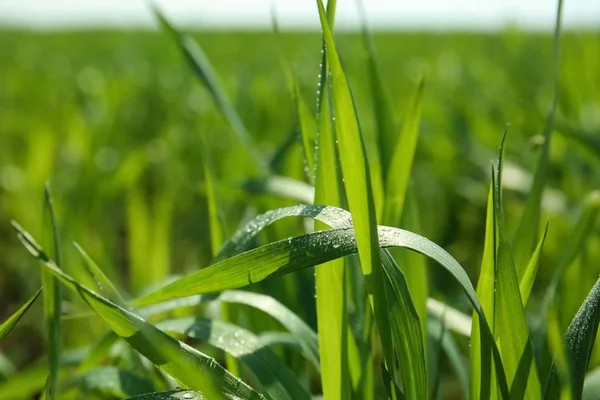
[[[540,158],[538,160],[536,171],[533,179],[533,185],[527,202],[525,203],[525,210],[515,231],[513,237],[514,243],[514,259],[517,268],[517,277],[519,281],[523,279],[525,269],[527,268],[528,261],[531,257],[531,253],[534,251],[535,240],[538,237],[538,230],[540,226],[540,215],[541,215],[541,201],[542,192],[546,186],[547,175],[548,175],[548,158],[550,154],[550,141],[552,139],[552,131],[554,130],[554,116],[556,114],[556,106],[558,104],[558,81],[560,74],[560,31],[562,24],[562,0],[558,0],[558,8],[556,12],[556,24],[554,29],[554,65],[553,65],[553,86],[554,96],[552,99],[552,105],[550,111],[546,117],[546,123],[544,125],[544,144]]]

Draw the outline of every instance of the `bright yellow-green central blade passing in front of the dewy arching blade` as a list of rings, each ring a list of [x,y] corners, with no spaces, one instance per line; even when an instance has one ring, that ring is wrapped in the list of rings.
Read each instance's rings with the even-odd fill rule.
[[[361,267],[374,310],[383,356],[393,376],[395,369],[394,350],[383,286],[379,241],[377,239],[377,214],[371,189],[369,163],[360,133],[350,86],[342,69],[333,39],[333,32],[329,27],[323,3],[317,0],[317,4],[327,48],[327,61],[331,70],[333,114],[336,118],[337,148],[344,176],[344,186],[348,205],[356,227],[356,240],[359,248]],[[406,378],[410,377],[409,374],[406,375]],[[409,398],[418,396],[423,390],[423,385],[426,387],[424,382],[412,382],[409,379],[404,382],[404,385]]]

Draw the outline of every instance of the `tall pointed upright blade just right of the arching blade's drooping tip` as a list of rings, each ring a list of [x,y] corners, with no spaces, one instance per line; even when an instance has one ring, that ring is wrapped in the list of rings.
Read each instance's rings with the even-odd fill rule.
[[[506,132],[500,146],[494,193],[494,226],[497,231],[495,264],[495,333],[511,398],[539,399],[542,396],[533,348],[519,291],[502,207],[502,159]]]

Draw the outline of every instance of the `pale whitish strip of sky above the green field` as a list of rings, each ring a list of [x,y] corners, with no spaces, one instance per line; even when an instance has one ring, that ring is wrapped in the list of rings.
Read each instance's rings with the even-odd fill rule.
[[[156,0],[178,25],[195,28],[316,29],[315,0]],[[555,0],[363,0],[369,25],[381,29],[551,29]],[[146,0],[0,0],[0,26],[35,29],[153,27]],[[341,28],[357,26],[357,0],[338,0]],[[565,27],[600,28],[600,0],[564,0]]]

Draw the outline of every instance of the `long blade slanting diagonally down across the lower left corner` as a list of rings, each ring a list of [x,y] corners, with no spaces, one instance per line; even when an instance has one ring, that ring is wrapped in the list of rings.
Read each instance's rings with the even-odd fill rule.
[[[173,339],[133,312],[77,283],[44,253],[28,232],[16,222],[13,222],[13,226],[23,245],[48,271],[79,295],[115,333],[180,384],[199,390],[210,399],[224,398],[224,394],[243,399],[264,399],[214,359]]]

